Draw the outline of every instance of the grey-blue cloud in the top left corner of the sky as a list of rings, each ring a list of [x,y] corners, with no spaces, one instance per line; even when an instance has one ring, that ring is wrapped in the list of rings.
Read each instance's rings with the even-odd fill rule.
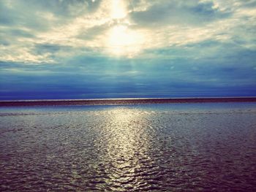
[[[79,15],[94,12],[101,0],[20,0],[0,1],[0,24],[31,28],[35,31],[68,23]],[[53,19],[49,18],[53,16]]]

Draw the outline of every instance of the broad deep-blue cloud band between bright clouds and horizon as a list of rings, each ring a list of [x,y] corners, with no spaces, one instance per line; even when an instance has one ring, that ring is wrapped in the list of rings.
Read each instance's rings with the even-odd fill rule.
[[[255,96],[255,51],[234,48],[229,56],[220,54],[219,59],[208,59],[207,55],[200,60],[187,57],[198,47],[206,49],[218,45],[218,42],[208,41],[190,45],[189,52],[182,53],[181,48],[178,54],[184,57],[177,58],[144,60],[78,55],[64,64],[1,62],[1,99],[14,99],[17,95],[20,97],[16,99],[33,96],[33,99]],[[39,47],[53,51],[60,48],[55,45]],[[171,52],[166,49],[161,53],[169,55]]]

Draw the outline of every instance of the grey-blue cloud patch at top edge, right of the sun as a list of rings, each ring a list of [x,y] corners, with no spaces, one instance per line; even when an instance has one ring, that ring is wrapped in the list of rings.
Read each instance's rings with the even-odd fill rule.
[[[154,1],[145,11],[130,14],[135,23],[143,26],[189,25],[200,26],[220,18],[227,18],[230,12],[214,7],[213,1]]]

